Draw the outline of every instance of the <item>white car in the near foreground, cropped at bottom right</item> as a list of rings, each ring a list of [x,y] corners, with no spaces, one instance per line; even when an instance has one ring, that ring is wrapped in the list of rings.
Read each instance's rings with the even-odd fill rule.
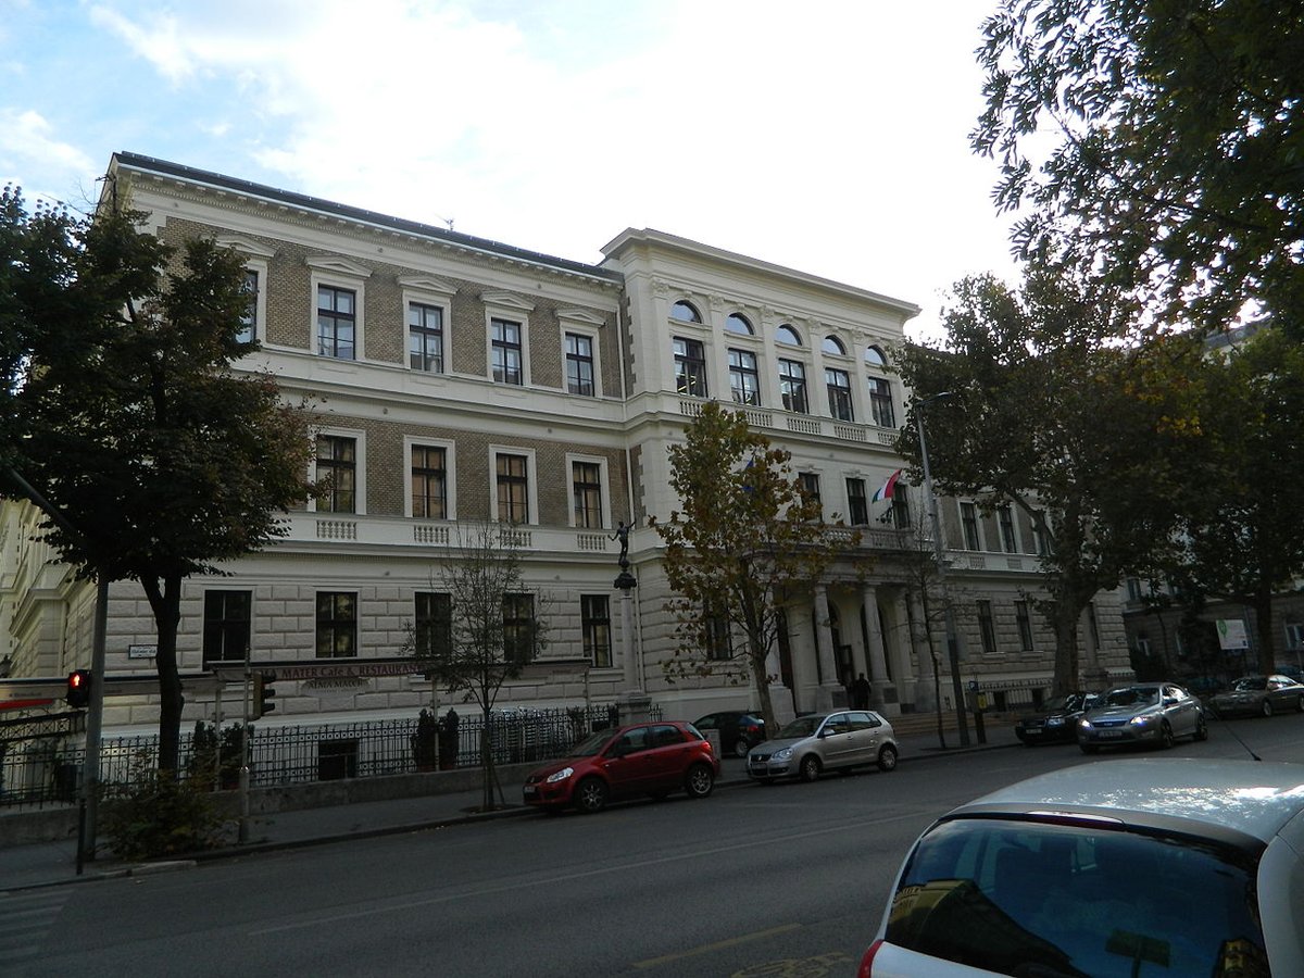
[[[1304,764],[1063,768],[935,822],[859,978],[1304,975]]]

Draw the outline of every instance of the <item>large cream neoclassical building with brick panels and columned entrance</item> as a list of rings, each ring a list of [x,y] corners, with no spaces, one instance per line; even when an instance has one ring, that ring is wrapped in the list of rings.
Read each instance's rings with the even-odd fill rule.
[[[941,626],[914,571],[923,494],[901,486],[872,501],[904,464],[892,443],[908,393],[887,361],[913,304],[659,231],[627,230],[587,265],[129,153],[113,156],[108,185],[149,214],[149,231],[211,236],[245,257],[259,349],[244,366],[310,399],[312,475],[330,476],[327,494],[289,514],[287,536],[188,583],[184,674],[248,651],[282,677],[269,722],[412,715],[430,685],[376,660],[438,617],[441,562],[488,519],[514,528],[529,588],[546,597],[506,614],[546,614],[549,636],[499,705],[638,695],[683,719],[754,705],[746,685],[662,670],[674,622],[648,519],[677,503],[668,447],[720,400],[792,452],[827,519],[861,531],[785,609],[776,712],[837,703],[862,672],[888,715],[949,705]],[[996,705],[1041,695],[1054,647],[1033,608],[1030,524],[973,499],[940,510],[965,681]],[[614,587],[622,523],[638,580],[627,613]],[[30,506],[0,509],[9,675],[90,660],[94,588],[35,527]],[[1128,674],[1114,595],[1084,618],[1081,640],[1085,668]],[[113,584],[106,672],[153,673],[153,642],[143,595]],[[213,698],[188,692],[186,715],[211,716]],[[149,695],[113,696],[104,716],[156,721]]]

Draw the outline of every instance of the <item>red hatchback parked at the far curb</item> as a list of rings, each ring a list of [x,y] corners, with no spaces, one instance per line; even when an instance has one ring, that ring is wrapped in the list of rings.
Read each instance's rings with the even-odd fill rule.
[[[567,805],[593,812],[609,801],[665,798],[681,789],[690,798],[705,798],[719,776],[720,758],[692,724],[630,724],[591,734],[570,756],[532,771],[524,798],[549,812]]]

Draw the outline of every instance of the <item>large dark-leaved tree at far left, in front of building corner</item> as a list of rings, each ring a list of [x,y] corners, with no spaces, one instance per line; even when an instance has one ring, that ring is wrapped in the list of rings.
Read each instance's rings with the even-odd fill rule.
[[[312,441],[270,374],[231,369],[256,349],[239,340],[240,258],[210,240],[176,249],[138,232],[143,218],[29,219],[18,192],[0,196],[4,347],[18,349],[0,451],[67,520],[47,518],[47,537],[82,578],[143,588],[158,631],[159,769],[175,772],[183,582],[286,532],[280,515],[306,498]]]

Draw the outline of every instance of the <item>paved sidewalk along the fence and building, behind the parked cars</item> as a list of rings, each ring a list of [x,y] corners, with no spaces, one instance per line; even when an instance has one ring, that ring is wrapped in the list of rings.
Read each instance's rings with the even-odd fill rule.
[[[956,732],[948,729],[947,745],[949,750],[943,751],[938,746],[935,732],[902,733],[897,735],[897,743],[901,747],[900,763],[911,764],[927,758],[960,754],[965,750],[991,750],[1018,745],[1013,726],[1008,724],[995,726],[988,724],[986,741],[986,743],[978,743],[973,729],[970,729],[971,746],[961,748],[957,746]],[[724,789],[745,784],[747,784],[747,772],[743,762],[737,758],[725,758],[721,762],[720,780],[716,782],[716,788]],[[249,824],[249,842],[245,845],[232,845],[170,862],[124,863],[96,859],[83,866],[80,876],[77,875],[77,841],[74,838],[10,846],[0,849],[0,893],[61,883],[162,872],[190,867],[198,861],[231,855],[528,815],[531,808],[522,805],[520,788],[519,780],[505,781],[502,785],[503,798],[510,807],[493,812],[476,811],[481,801],[481,793],[477,789],[424,798],[395,798],[254,816]]]

